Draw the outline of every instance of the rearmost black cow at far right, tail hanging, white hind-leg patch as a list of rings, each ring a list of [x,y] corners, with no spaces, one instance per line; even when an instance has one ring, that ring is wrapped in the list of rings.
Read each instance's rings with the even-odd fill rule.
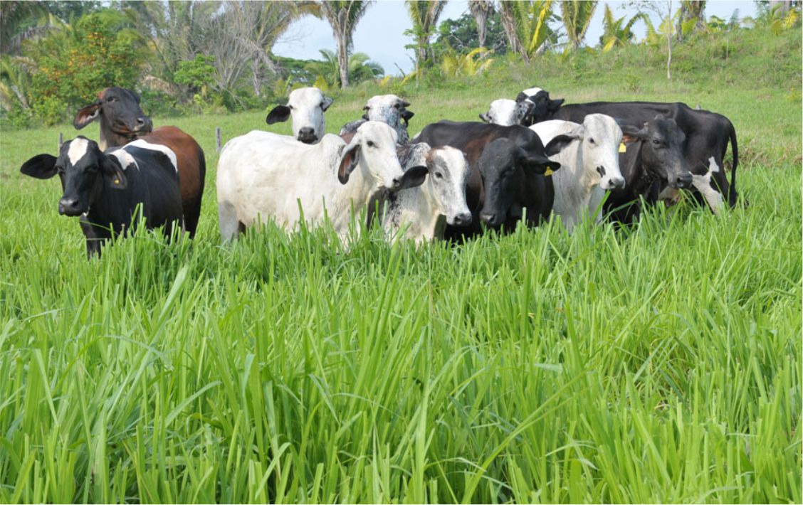
[[[658,102],[592,102],[589,104],[570,104],[560,107],[550,119],[560,119],[582,123],[587,114],[607,114],[620,121],[620,124],[644,124],[660,114],[675,120],[683,130],[686,140],[683,143],[683,157],[694,176],[692,181],[695,198],[707,201],[714,212],[719,211],[723,196],[728,204],[736,205],[736,166],[739,164],[739,149],[736,145],[736,128],[727,117],[715,112],[694,110],[686,104],[663,104]],[[723,159],[731,144],[733,164],[731,182],[725,176]]]

